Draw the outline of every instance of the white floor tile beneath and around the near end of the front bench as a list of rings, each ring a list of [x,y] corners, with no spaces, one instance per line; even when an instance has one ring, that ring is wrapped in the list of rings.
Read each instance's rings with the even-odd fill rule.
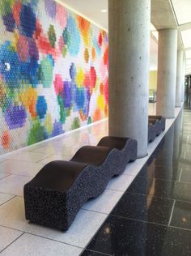
[[[13,198],[0,207],[0,225],[82,248],[87,245],[106,217],[105,214],[80,210],[69,230],[63,233],[53,228],[28,223],[25,220],[23,198],[21,197]]]

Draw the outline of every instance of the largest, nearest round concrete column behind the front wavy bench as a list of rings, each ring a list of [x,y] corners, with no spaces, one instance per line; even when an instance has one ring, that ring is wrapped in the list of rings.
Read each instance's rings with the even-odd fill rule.
[[[151,0],[109,0],[109,135],[147,155]]]

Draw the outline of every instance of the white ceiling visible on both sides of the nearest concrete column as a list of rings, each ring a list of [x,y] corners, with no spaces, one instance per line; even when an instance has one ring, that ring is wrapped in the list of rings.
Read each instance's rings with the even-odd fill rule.
[[[57,0],[79,12],[101,28],[108,30],[108,0]],[[179,48],[191,58],[191,0],[151,0],[151,70],[157,69],[158,32],[155,28],[177,28],[180,32]],[[189,65],[189,64],[188,64]],[[190,73],[190,66],[187,71]],[[188,72],[186,71],[186,74]]]

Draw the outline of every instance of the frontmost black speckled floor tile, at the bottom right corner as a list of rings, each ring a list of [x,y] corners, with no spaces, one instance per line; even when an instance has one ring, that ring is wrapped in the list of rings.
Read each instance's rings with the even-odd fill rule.
[[[89,250],[117,256],[189,256],[191,233],[109,216]]]

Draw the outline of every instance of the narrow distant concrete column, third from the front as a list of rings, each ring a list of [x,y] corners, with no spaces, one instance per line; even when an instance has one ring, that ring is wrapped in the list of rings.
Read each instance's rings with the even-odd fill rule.
[[[177,51],[177,66],[176,66],[176,102],[175,106],[181,106],[182,100],[182,76],[183,76],[183,51]]]

